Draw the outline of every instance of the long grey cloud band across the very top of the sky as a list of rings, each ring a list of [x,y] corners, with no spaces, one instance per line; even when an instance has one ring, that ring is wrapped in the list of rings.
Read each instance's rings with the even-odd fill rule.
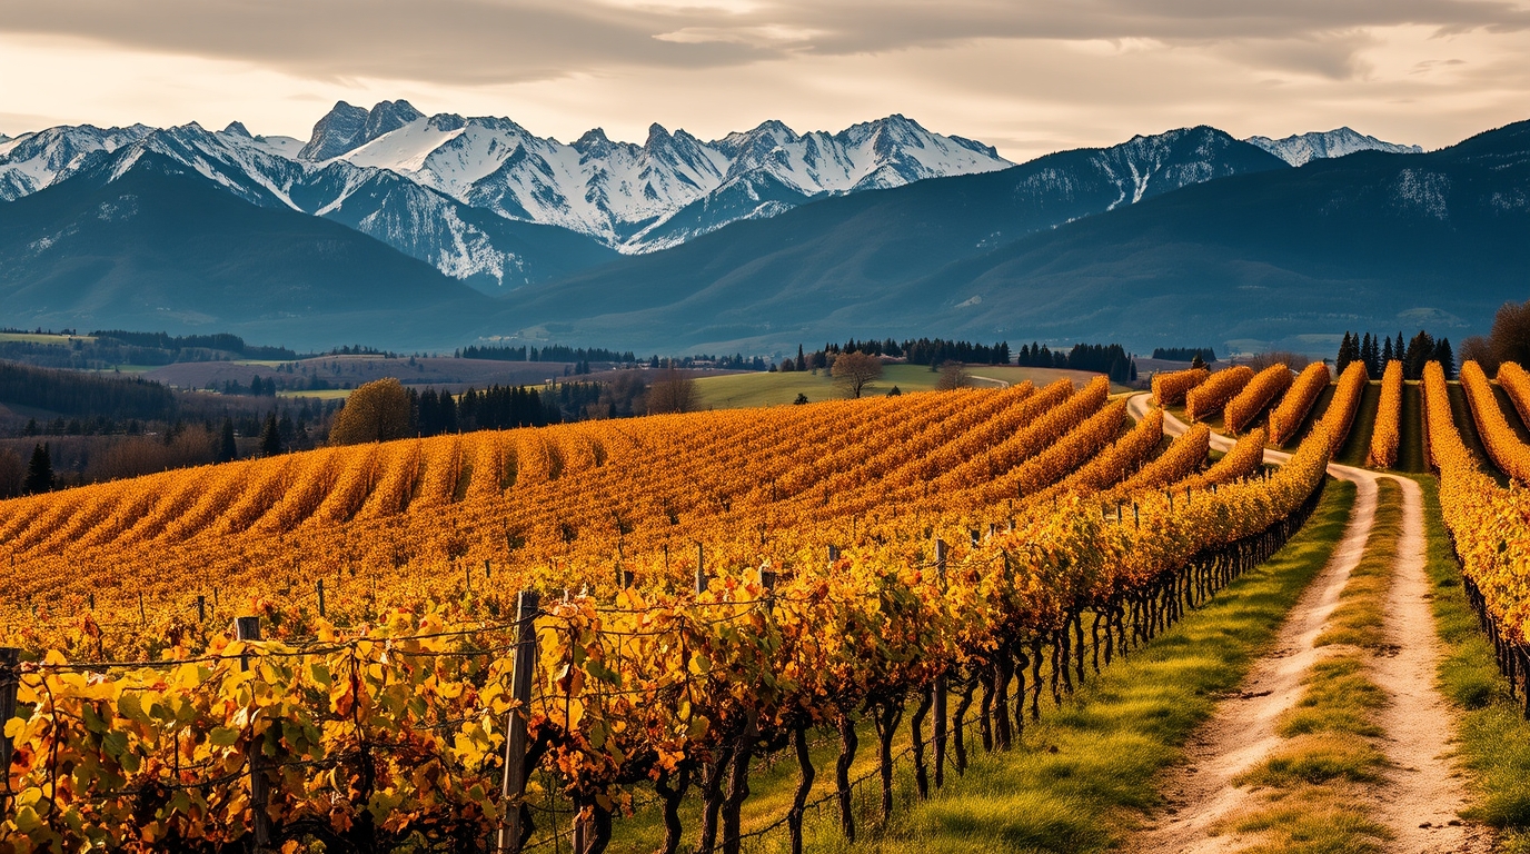
[[[858,55],[973,40],[1221,46],[1365,72],[1365,28],[1530,29],[1507,0],[0,0],[0,32],[256,63],[314,80],[503,84]]]

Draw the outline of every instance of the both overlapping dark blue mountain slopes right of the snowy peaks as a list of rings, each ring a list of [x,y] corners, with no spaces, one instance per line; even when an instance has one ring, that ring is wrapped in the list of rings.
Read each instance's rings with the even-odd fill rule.
[[[496,332],[517,323],[528,338],[644,349],[664,331],[699,352],[884,335],[1331,352],[1356,328],[1426,328],[1458,341],[1524,298],[1530,122],[1438,152],[1360,152],[1302,168],[1222,145],[1267,168],[1178,188],[1149,178],[1138,204],[1030,231],[1085,190],[1103,207],[1135,184],[1114,162],[1108,178],[1105,152],[1073,152],[831,199],[526,288],[508,297]],[[1079,178],[1091,171],[1092,188]],[[1004,222],[996,239],[975,239]],[[621,294],[592,302],[618,282]]]

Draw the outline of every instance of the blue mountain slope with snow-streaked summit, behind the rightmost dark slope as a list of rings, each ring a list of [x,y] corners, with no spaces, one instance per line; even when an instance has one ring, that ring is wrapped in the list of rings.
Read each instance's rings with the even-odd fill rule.
[[[1268,170],[1288,167],[1219,130],[1196,127],[1050,155],[1004,171],[831,197],[525,288],[506,297],[511,311],[503,323],[516,324],[511,332],[529,328],[643,349],[659,335],[687,346],[796,344],[799,335],[822,337],[820,321],[831,312],[848,311],[857,323],[858,306],[887,289],[1027,234],[1189,184]]]

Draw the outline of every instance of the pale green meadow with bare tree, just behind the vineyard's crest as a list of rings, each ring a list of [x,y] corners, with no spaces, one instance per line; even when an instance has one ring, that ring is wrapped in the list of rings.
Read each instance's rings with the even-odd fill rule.
[[[1094,373],[1085,370],[1060,370],[1053,367],[1013,367],[1013,366],[968,366],[973,384],[978,387],[999,387],[1005,383],[1024,383],[1030,380],[1036,386],[1045,386],[1060,378],[1074,383],[1086,383]],[[881,380],[872,383],[863,396],[886,395],[894,386],[900,392],[929,392],[935,387],[939,373],[923,364],[889,364],[883,369]],[[834,387],[834,380],[826,370],[789,372],[789,373],[730,373],[727,376],[704,376],[696,380],[701,392],[701,409],[747,409],[756,406],[780,406],[806,395],[808,403],[831,401],[843,398],[843,392]],[[1125,386],[1112,387],[1126,390]]]

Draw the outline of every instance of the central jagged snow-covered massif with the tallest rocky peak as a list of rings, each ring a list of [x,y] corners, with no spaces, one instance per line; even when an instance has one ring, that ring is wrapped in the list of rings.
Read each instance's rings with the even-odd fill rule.
[[[387,112],[382,125],[392,124],[407,115],[398,106],[413,110],[384,103],[364,124],[378,124],[378,110]],[[797,135],[768,121],[711,142],[655,124],[643,145],[614,142],[600,129],[565,144],[511,119],[448,113],[370,139],[361,124],[356,107],[337,104],[314,129],[314,139],[324,142],[309,142],[300,156],[387,168],[468,205],[569,228],[623,253],[670,246],[823,194],[1013,165],[988,145],[930,133],[901,115],[832,135]],[[341,138],[353,145],[335,153]],[[760,187],[770,190],[747,204]],[[687,208],[684,227],[669,222]]]

